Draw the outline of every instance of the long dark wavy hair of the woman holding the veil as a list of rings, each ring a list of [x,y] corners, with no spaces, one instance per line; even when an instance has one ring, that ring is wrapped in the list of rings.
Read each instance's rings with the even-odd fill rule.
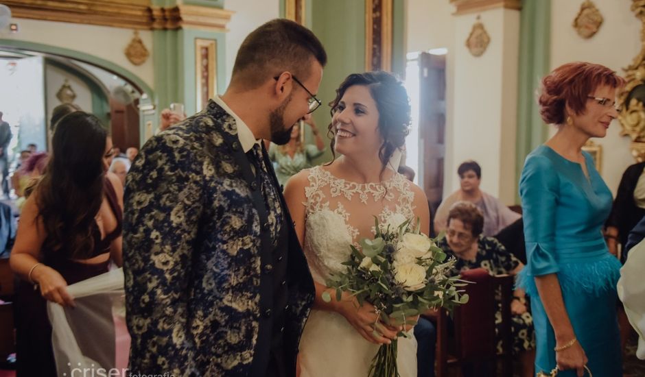
[[[86,258],[95,246],[92,230],[103,202],[107,136],[97,117],[81,111],[56,124],[36,203],[47,232],[43,246],[62,250],[67,258]]]

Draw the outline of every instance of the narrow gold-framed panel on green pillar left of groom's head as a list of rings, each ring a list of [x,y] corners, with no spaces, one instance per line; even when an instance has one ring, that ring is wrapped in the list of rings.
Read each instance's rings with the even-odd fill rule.
[[[217,47],[217,40],[195,38],[195,105],[197,111],[205,108],[209,99],[218,93]]]

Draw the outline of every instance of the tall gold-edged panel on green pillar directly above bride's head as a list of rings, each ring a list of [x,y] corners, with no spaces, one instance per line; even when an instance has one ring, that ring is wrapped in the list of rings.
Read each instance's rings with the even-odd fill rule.
[[[365,0],[365,70],[392,69],[392,0]]]

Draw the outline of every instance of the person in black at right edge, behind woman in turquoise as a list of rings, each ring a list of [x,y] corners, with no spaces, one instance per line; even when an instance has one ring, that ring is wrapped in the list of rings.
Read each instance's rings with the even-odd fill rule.
[[[618,192],[605,223],[605,239],[609,252],[618,256],[618,245],[622,246],[620,261],[627,258],[627,237],[629,232],[645,216],[645,162],[628,167],[622,174]]]

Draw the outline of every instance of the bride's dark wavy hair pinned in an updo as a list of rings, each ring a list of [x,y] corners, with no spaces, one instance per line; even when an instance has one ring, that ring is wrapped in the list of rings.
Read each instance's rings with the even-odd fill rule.
[[[384,71],[352,73],[336,89],[336,98],[329,103],[331,117],[338,107],[338,103],[345,90],[351,86],[367,86],[372,98],[379,110],[379,134],[383,138],[383,144],[379,149],[379,159],[385,169],[390,157],[397,148],[403,147],[406,136],[410,130],[410,99],[408,92],[403,87],[403,82],[391,73]],[[331,153],[336,158],[333,150],[335,139],[333,138],[333,123],[329,123],[327,134],[331,137]]]

